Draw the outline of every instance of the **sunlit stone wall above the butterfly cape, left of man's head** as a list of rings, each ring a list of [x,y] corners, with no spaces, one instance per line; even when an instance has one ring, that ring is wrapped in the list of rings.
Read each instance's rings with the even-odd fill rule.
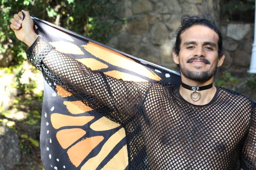
[[[210,11],[219,20],[219,0],[123,0],[120,14],[129,22],[108,45],[172,70],[173,34],[183,14]]]

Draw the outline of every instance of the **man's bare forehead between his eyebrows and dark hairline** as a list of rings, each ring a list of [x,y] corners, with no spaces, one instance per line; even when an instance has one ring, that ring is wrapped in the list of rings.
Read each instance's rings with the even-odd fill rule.
[[[181,37],[181,45],[186,41],[215,42],[218,44],[218,34],[207,26],[196,25],[186,29]]]

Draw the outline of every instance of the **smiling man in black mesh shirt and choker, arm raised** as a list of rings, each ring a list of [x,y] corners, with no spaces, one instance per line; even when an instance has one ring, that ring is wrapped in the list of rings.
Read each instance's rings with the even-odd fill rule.
[[[125,82],[91,71],[61,54],[33,30],[28,11],[11,28],[29,49],[28,59],[67,91],[125,128],[129,169],[256,169],[256,106],[245,96],[212,85],[224,61],[218,28],[184,16],[173,58],[179,87]]]

